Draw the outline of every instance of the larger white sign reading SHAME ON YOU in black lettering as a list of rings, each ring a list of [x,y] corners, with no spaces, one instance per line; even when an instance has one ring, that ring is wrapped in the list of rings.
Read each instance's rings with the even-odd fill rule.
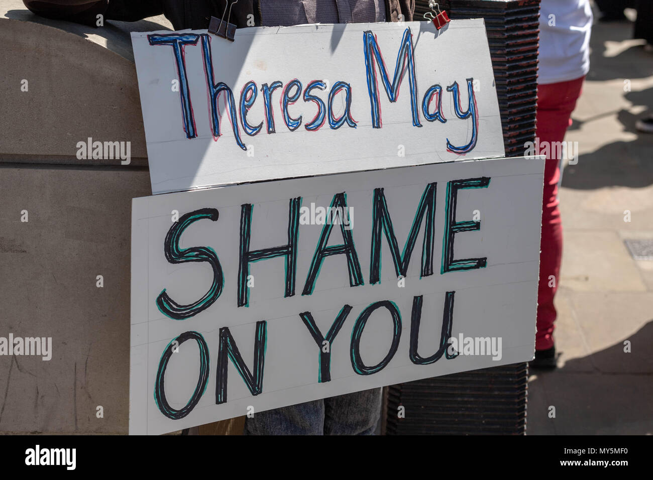
[[[130,433],[532,359],[542,184],[536,157],[134,199]]]

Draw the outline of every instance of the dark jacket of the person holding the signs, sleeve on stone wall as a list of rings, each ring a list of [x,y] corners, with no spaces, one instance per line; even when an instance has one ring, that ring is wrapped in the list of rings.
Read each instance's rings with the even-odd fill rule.
[[[205,29],[211,16],[221,18],[227,0],[23,0],[25,6],[37,15],[60,18],[95,25],[97,14],[106,20],[136,22],[155,15],[165,15],[175,30]],[[400,14],[411,22],[415,0],[385,0],[385,18],[396,22]],[[261,25],[259,0],[238,0],[231,9],[229,19],[236,27],[247,27],[247,18],[253,15],[255,25]]]

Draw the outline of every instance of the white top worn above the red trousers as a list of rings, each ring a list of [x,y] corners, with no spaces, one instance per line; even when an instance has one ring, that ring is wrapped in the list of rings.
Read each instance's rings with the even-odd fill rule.
[[[537,83],[575,80],[590,70],[590,0],[542,0]]]

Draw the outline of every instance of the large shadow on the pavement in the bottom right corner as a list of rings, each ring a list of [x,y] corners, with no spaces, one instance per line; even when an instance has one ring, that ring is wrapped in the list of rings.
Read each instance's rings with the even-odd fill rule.
[[[630,353],[624,351],[626,340]],[[652,344],[653,320],[613,346],[569,360],[562,368],[532,370],[527,434],[653,434]]]

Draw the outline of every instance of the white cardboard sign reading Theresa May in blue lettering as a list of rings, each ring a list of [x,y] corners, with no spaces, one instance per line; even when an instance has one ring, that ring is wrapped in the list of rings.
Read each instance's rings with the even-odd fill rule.
[[[131,35],[153,193],[504,155],[482,19]]]

